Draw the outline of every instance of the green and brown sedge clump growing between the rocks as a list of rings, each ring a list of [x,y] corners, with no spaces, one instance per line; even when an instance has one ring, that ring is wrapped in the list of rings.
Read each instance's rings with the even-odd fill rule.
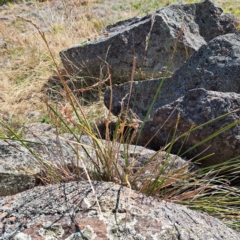
[[[44,174],[41,173],[41,176],[39,176],[43,183],[52,184],[56,182],[79,180],[77,166],[81,166],[85,172],[85,180],[88,180],[90,183],[92,180],[115,182],[127,186],[130,189],[141,191],[142,193],[155,196],[166,201],[184,204],[192,209],[207,212],[212,216],[222,219],[230,227],[240,229],[240,189],[238,186],[231,186],[231,183],[236,180],[240,174],[240,157],[230,159],[229,161],[218,165],[191,171],[189,171],[188,166],[180,167],[178,169],[173,168],[171,167],[170,161],[171,148],[177,140],[180,138],[186,139],[192,132],[198,130],[204,125],[212,123],[213,121],[217,121],[219,118],[224,118],[225,115],[210,120],[200,126],[192,127],[185,134],[177,136],[178,124],[179,121],[181,121],[181,116],[179,116],[171,141],[161,150],[157,151],[152,156],[149,156],[148,161],[142,166],[136,168],[135,163],[137,162],[140,153],[138,152],[132,157],[131,154],[129,154],[129,148],[133,141],[138,141],[141,129],[148,119],[151,108],[156,100],[156,96],[161,91],[165,77],[162,78],[154,100],[142,123],[138,121],[129,121],[129,113],[133,113],[127,108],[117,117],[115,128],[111,130],[111,114],[109,111],[105,121],[105,140],[101,139],[100,130],[96,125],[90,123],[83,106],[74,95],[74,92],[66,84],[61,74],[61,70],[59,69],[57,62],[55,61],[55,57],[49,47],[45,34],[32,21],[24,18],[22,18],[22,20],[27,21],[38,30],[38,33],[48,48],[54,66],[56,67],[58,77],[64,87],[65,100],[68,102],[64,111],[59,111],[59,108],[57,108],[56,105],[52,105],[47,101],[46,105],[50,113],[49,117],[57,129],[56,139],[66,141],[77,159],[77,163],[75,163],[73,167],[75,168],[75,171],[70,171],[69,166],[64,164],[64,160],[61,165],[54,165],[54,163],[50,163],[32,150],[29,147],[28,142],[19,137],[19,135],[13,131],[11,126],[2,121],[2,126],[7,128],[11,133],[11,139],[20,141],[23,146],[25,146],[37,159],[40,165],[43,166]],[[136,59],[134,58],[129,96],[126,96],[128,97],[128,103],[132,94],[135,69]],[[96,84],[83,88],[80,91],[92,91],[100,85],[105,84],[105,82],[108,82],[110,89],[112,89],[112,79],[109,68],[106,79],[100,80]],[[112,91],[109,106],[110,110],[112,108],[111,103]],[[221,134],[222,131],[226,131],[239,123],[240,121],[236,121],[229,124],[225,128],[209,136],[207,139],[200,141],[193,147],[197,147],[200,144],[207,142],[208,140]],[[65,138],[64,135],[61,135],[62,132],[70,133],[72,140],[69,140]],[[82,142],[81,137],[84,135],[88,136],[90,139],[89,144]],[[1,138],[9,139],[8,136],[1,136]],[[38,142],[38,144],[40,142],[40,144],[44,145],[44,142],[41,143],[41,141],[37,140],[39,139],[36,137],[36,142]],[[61,148],[60,141],[59,147]],[[123,162],[120,161],[122,147]],[[80,150],[84,152],[84,157],[80,154]],[[160,162],[156,161],[163,150],[165,151],[165,158],[163,158]],[[189,149],[189,151],[190,150],[191,149]],[[201,159],[198,160],[200,161]],[[92,166],[91,170],[89,170],[89,163]],[[72,172],[74,172],[74,174]],[[71,175],[71,177],[68,177],[68,175]]]

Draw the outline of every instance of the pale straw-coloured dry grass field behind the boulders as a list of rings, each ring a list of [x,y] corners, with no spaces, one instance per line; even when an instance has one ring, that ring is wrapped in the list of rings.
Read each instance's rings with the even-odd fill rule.
[[[59,64],[59,51],[86,39],[99,37],[108,24],[145,15],[176,0],[50,0],[8,4],[0,8],[0,119],[15,130],[29,122],[47,121],[44,84],[56,74],[46,44],[37,30],[18,16],[31,19],[44,32]],[[240,16],[236,0],[214,1],[227,12]],[[64,103],[63,103],[64,104]],[[99,103],[98,103],[99,104]],[[103,105],[87,108],[90,115],[103,115]],[[1,130],[1,129],[0,129]],[[1,131],[0,131],[1,135]]]

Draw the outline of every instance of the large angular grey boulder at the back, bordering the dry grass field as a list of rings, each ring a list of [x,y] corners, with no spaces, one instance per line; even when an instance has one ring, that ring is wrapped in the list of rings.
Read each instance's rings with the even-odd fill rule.
[[[109,26],[105,38],[65,49],[60,57],[69,73],[90,78],[108,75],[108,64],[114,83],[130,80],[136,57],[135,80],[156,78],[163,76],[170,62],[174,72],[206,41],[235,32],[236,24],[234,16],[207,0],[171,5]]]

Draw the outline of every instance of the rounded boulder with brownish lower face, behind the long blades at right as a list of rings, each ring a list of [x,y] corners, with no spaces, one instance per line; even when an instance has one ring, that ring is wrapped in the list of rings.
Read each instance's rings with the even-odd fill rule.
[[[225,126],[239,122],[240,94],[206,91],[201,88],[189,90],[184,97],[155,111],[153,118],[144,125],[138,144],[145,145],[154,136],[148,147],[157,150],[170,142],[176,128],[178,114],[180,121],[176,137],[186,133],[193,125],[199,126],[232,111],[232,114],[192,132],[187,139],[178,140],[173,145],[172,153],[181,155]],[[179,149],[181,149],[180,152]],[[201,158],[211,153],[214,155],[201,161],[200,166],[219,164],[240,155],[240,122],[185,153],[183,157],[191,159],[198,155],[197,158]]]

